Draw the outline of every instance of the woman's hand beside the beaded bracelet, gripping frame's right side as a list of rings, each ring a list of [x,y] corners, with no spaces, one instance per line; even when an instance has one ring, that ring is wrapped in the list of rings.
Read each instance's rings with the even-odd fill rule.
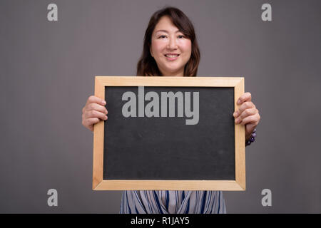
[[[260,114],[258,109],[253,104],[252,95],[244,93],[238,98],[238,110],[233,113],[235,123],[245,125],[245,140],[249,140],[253,130],[260,122]]]

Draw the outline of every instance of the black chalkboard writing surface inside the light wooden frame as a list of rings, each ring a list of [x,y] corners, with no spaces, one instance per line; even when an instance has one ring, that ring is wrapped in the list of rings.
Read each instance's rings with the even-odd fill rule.
[[[233,88],[144,87],[160,98],[161,92],[199,92],[196,125],[178,117],[177,105],[175,117],[168,117],[169,102],[167,117],[126,118],[126,91],[138,100],[138,86],[105,90],[104,180],[235,180]]]

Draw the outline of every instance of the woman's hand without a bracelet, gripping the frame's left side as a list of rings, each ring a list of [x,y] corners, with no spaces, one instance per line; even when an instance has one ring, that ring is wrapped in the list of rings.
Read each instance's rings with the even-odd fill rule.
[[[91,95],[86,105],[83,107],[82,124],[93,131],[93,125],[101,120],[107,120],[107,109],[105,108],[106,101]]]

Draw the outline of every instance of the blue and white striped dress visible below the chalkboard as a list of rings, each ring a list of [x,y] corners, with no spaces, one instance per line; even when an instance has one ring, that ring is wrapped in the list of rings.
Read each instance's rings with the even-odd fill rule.
[[[121,214],[225,214],[221,191],[123,191]]]

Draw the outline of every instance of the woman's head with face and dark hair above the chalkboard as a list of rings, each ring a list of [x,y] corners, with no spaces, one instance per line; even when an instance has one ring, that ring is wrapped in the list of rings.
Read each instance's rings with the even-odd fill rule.
[[[179,9],[156,11],[144,37],[137,76],[196,76],[200,50],[193,24]]]

